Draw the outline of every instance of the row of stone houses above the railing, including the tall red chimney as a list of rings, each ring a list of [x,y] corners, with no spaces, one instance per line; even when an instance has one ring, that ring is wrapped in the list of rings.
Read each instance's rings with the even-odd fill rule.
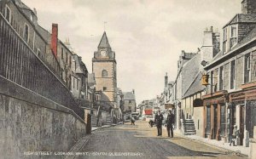
[[[9,25],[32,49],[38,59],[42,60],[44,65],[55,74],[55,77],[73,93],[73,97],[86,99],[88,71],[80,58],[76,58],[79,69],[72,70],[73,58],[77,55],[73,54],[69,42],[62,43],[58,39],[58,25],[52,25],[51,33],[46,31],[38,24],[36,9],[28,8],[20,0],[1,1],[0,10],[5,19],[9,21]],[[74,84],[79,87],[77,89],[79,94],[73,91]]]

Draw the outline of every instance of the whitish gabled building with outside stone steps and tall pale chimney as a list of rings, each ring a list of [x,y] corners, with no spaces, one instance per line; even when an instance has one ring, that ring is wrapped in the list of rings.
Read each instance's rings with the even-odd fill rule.
[[[207,28],[203,34],[201,48],[197,53],[186,53],[182,51],[177,61],[177,78],[172,83],[172,104],[175,105],[176,126],[177,129],[186,132],[186,125],[193,123],[195,129],[193,132],[197,135],[203,134],[203,108],[201,97],[204,95],[204,87],[201,85],[201,75],[203,74],[203,65],[210,63],[220,54],[219,33],[213,31],[212,26]],[[195,103],[201,101],[200,105]],[[182,127],[181,127],[182,126]],[[189,130],[190,131],[190,130]]]

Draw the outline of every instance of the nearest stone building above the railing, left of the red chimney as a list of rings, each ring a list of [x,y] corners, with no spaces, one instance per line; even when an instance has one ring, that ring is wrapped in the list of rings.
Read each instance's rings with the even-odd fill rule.
[[[36,9],[30,9],[20,0],[3,0],[0,3],[0,12],[9,25],[20,35],[24,42],[32,49],[44,64],[60,77],[61,67],[53,52],[48,51],[48,41],[38,31],[38,16]]]

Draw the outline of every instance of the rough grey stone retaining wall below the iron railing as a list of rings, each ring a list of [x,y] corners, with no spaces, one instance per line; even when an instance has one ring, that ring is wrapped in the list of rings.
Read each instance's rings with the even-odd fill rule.
[[[39,158],[24,156],[25,151],[68,151],[85,135],[85,127],[67,107],[0,77],[1,158]]]

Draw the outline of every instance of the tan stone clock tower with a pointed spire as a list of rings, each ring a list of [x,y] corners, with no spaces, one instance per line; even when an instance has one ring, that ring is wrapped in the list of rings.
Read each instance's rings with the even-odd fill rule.
[[[116,105],[116,60],[115,53],[108,43],[108,37],[104,31],[97,51],[92,59],[92,72],[95,74],[96,91],[101,92],[102,109],[109,111]]]

